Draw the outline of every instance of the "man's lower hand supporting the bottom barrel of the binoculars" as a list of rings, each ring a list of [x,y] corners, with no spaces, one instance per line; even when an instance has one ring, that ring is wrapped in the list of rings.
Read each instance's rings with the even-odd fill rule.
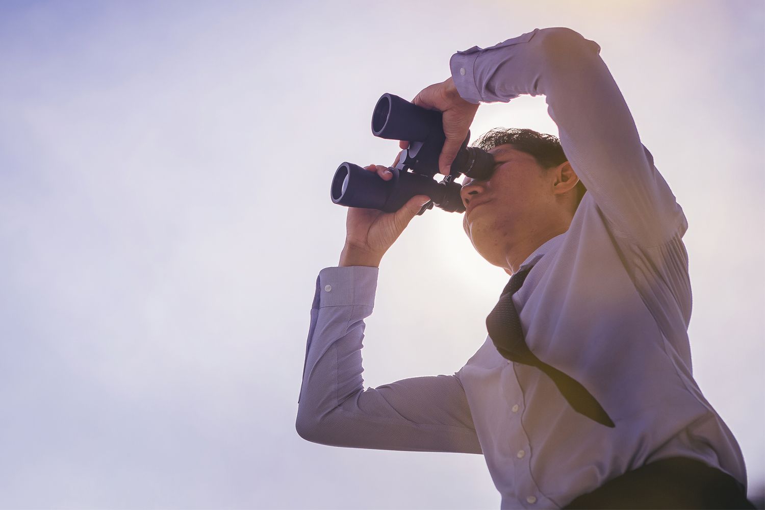
[[[398,158],[396,160],[398,161]],[[370,164],[364,167],[364,170],[376,172],[383,180],[393,178],[388,168],[379,164]],[[401,232],[409,225],[412,218],[417,216],[428,200],[430,198],[427,195],[415,195],[396,213],[349,207],[345,247],[340,255],[340,266],[379,267],[382,255],[385,255],[393,242],[399,239]]]

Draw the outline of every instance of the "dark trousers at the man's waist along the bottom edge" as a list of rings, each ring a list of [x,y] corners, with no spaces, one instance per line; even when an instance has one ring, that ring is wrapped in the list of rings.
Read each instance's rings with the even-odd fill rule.
[[[564,508],[754,508],[744,487],[698,460],[657,460],[609,480]]]

